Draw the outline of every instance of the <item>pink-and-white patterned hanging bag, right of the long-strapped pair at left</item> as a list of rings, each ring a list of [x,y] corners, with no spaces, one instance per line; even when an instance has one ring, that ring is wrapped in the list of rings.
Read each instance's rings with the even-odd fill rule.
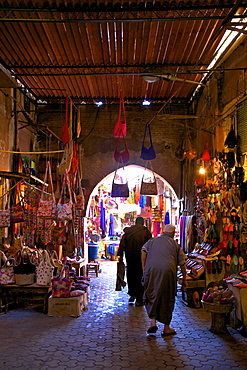
[[[62,203],[62,196],[64,193],[64,188],[65,184],[68,189],[69,193],[69,201],[66,203]],[[64,171],[64,176],[63,176],[63,184],[62,184],[62,189],[60,193],[60,198],[57,203],[57,216],[56,216],[57,221],[69,221],[72,220],[72,194],[71,194],[71,188],[70,188],[70,181],[69,181],[69,176],[68,176],[68,171]]]

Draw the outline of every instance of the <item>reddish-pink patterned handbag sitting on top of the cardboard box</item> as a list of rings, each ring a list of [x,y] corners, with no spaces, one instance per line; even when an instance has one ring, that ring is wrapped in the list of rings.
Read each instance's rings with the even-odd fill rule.
[[[64,265],[60,275],[51,280],[52,297],[68,298],[71,291],[72,282],[73,280],[69,277],[69,266]]]

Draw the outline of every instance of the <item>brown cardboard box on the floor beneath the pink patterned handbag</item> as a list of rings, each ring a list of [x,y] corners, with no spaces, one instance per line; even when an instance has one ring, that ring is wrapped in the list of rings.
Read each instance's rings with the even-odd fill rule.
[[[69,298],[48,298],[48,316],[79,317],[84,309],[85,294]]]

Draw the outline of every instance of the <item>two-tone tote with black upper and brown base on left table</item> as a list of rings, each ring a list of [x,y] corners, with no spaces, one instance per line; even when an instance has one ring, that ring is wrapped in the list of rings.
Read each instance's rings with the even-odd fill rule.
[[[14,266],[15,282],[17,285],[31,285],[35,281],[36,266],[31,263],[29,251],[23,248],[18,252],[20,263]]]

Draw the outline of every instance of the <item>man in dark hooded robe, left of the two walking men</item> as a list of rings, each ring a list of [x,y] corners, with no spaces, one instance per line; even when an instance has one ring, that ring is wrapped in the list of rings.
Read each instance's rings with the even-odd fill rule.
[[[126,227],[124,235],[121,238],[118,256],[119,260],[123,260],[123,252],[125,253],[127,263],[127,283],[128,294],[130,295],[129,302],[134,303],[136,306],[143,305],[143,285],[142,280],[142,263],[141,263],[141,249],[152,234],[144,226],[143,217],[137,217],[135,225]]]

